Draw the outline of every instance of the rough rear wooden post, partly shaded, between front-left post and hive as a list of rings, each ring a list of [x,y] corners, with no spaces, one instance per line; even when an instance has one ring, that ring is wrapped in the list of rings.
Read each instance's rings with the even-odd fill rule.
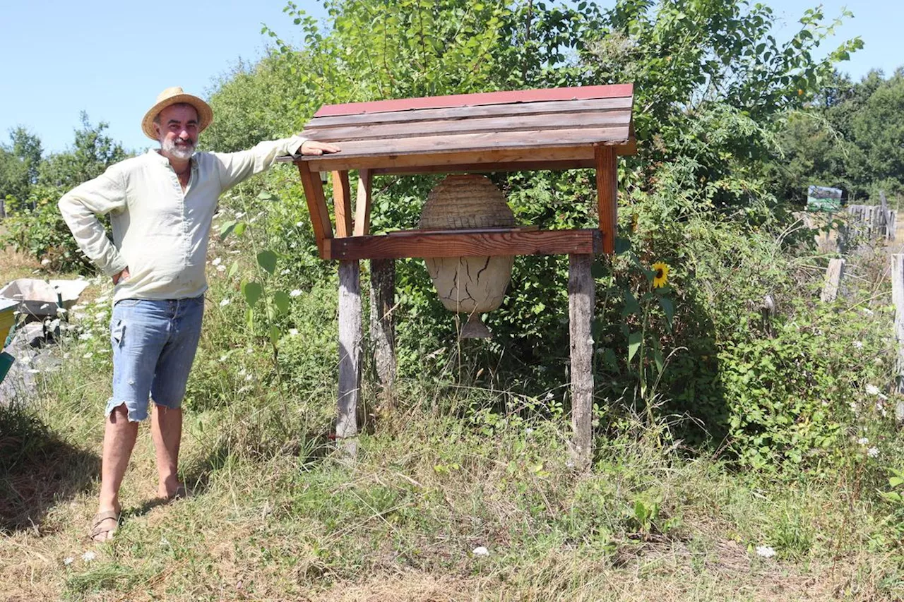
[[[391,390],[396,377],[395,260],[371,259],[371,342],[377,381],[382,390]]]

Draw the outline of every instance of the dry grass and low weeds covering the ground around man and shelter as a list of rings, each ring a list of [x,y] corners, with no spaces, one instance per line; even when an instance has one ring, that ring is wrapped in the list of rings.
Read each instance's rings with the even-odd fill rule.
[[[86,298],[107,295],[93,285]],[[575,473],[567,415],[456,385],[460,375],[400,381],[379,406],[365,382],[377,416],[349,463],[326,437],[334,283],[293,302],[299,332],[280,343],[291,366],[282,381],[237,298],[235,279],[212,273],[186,400],[190,496],[155,501],[142,425],[112,542],[86,537],[109,394],[108,300],[81,312],[54,352],[61,370],[38,375],[29,406],[0,409],[4,599],[904,599],[900,514],[862,463],[739,471],[674,440],[665,419],[626,412],[596,439],[592,470]],[[904,448],[895,437],[883,448]],[[761,545],[777,555],[759,556]]]

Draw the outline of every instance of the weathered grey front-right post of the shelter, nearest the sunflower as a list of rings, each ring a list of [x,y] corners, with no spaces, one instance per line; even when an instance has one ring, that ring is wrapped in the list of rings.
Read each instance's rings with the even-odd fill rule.
[[[569,335],[571,351],[570,460],[578,470],[590,466],[593,415],[593,322],[594,282],[590,274],[592,255],[569,255]]]

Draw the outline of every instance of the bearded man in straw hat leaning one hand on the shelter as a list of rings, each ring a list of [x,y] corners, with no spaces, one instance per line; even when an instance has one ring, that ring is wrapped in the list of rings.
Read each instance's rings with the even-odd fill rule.
[[[110,338],[113,396],[105,412],[98,513],[90,535],[106,541],[118,526],[119,486],[138,422],[153,401],[151,437],[164,499],[184,495],[176,477],[185,383],[201,334],[204,265],[221,193],[274,164],[279,155],[322,155],[336,146],[292,136],[239,153],[194,153],[211,125],[206,102],[165,89],[141,127],[160,148],[112,165],[60,200],[85,254],[116,286]],[[113,240],[97,216],[110,214]]]

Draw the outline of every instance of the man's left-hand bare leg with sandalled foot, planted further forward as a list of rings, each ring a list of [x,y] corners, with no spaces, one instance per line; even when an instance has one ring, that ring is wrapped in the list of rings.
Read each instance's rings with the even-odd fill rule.
[[[138,436],[138,423],[130,422],[126,404],[113,409],[104,425],[104,450],[100,466],[100,500],[98,513],[119,513],[119,487],[126,475],[128,459],[132,456],[135,439]],[[113,537],[116,519],[108,518],[97,525],[99,528],[97,541],[106,541]]]

